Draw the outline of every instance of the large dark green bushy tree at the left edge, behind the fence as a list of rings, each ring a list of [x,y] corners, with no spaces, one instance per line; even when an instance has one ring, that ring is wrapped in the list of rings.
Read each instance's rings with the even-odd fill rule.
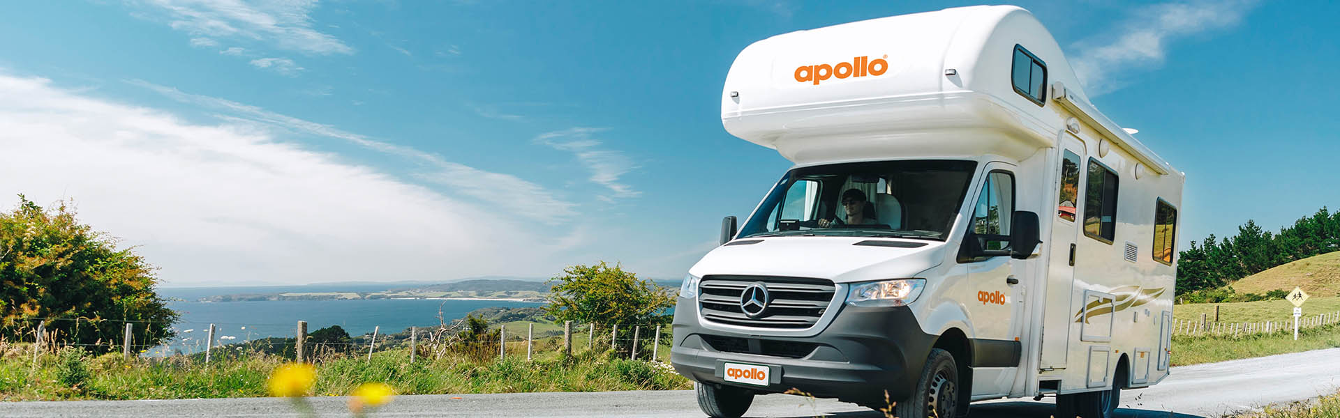
[[[0,213],[0,338],[21,340],[38,320],[62,342],[121,342],[134,323],[135,346],[170,339],[177,312],[154,292],[154,267],[131,248],[75,218],[62,201],[43,209],[23,194]]]

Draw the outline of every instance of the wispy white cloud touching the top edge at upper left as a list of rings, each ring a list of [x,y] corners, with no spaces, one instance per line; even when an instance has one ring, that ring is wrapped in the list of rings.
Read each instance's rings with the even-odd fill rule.
[[[315,0],[145,0],[150,19],[165,20],[192,36],[263,42],[303,54],[354,54],[335,36],[312,28]]]

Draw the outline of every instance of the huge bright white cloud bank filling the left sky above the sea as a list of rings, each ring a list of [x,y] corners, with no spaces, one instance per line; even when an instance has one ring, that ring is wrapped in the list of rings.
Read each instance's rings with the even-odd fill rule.
[[[536,275],[563,245],[269,130],[3,74],[0,96],[24,98],[0,100],[0,196],[74,198],[82,221],[135,245],[173,285]]]

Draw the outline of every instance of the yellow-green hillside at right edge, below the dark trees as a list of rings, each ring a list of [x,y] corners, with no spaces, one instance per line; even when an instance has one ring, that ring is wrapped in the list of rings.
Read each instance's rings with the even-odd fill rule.
[[[1340,252],[1312,256],[1276,265],[1231,284],[1238,293],[1292,291],[1301,287],[1309,296],[1340,296]]]

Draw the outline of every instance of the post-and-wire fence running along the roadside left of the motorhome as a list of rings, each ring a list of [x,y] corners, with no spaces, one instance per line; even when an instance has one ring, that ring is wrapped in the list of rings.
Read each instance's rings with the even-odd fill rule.
[[[247,355],[277,355],[302,362],[320,362],[332,356],[366,356],[377,352],[402,351],[407,362],[438,360],[444,356],[485,362],[504,358],[563,356],[610,352],[628,359],[665,362],[669,359],[670,330],[666,324],[591,324],[591,323],[517,323],[486,328],[469,328],[462,320],[442,322],[430,327],[383,334],[374,327],[370,334],[344,340],[323,340],[326,335],[308,334],[306,322],[295,324],[243,323],[166,323],[146,320],[88,319],[9,319],[4,324],[9,343],[34,343],[40,352],[63,347],[80,347],[95,354],[121,352],[126,358],[185,358],[209,363]],[[257,327],[289,327],[289,335],[257,332]],[[92,330],[92,331],[90,331]],[[119,330],[117,338],[110,330]],[[90,335],[105,338],[88,340]]]

